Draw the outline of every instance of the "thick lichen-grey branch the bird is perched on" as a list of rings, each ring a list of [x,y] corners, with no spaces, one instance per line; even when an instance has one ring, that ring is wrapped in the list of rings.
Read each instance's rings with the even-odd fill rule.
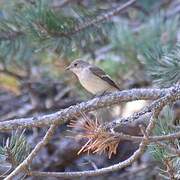
[[[63,124],[74,117],[80,116],[81,112],[90,112],[103,107],[120,104],[133,100],[156,100],[163,97],[173,88],[166,89],[132,89],[114,92],[103,97],[96,97],[87,102],[70,106],[53,114],[0,121],[0,131],[10,131],[17,128],[45,127],[53,123]]]

